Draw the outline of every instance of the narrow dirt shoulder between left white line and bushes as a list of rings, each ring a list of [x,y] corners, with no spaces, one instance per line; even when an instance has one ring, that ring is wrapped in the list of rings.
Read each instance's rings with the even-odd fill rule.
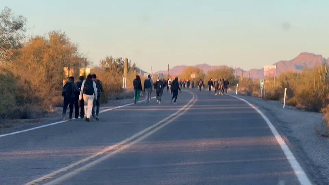
[[[140,98],[143,99],[143,98]],[[101,110],[134,102],[133,98],[108,101],[101,104]],[[7,134],[15,131],[25,130],[62,120],[63,107],[56,107],[54,113],[47,113],[36,119],[10,119],[0,123],[0,134]],[[68,119],[69,108],[67,108],[66,119]],[[74,112],[73,112],[74,116]],[[101,116],[101,115],[100,115]]]

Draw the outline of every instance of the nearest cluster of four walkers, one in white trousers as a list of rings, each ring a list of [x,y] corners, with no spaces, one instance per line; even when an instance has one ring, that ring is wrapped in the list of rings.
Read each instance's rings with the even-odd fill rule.
[[[70,109],[70,120],[73,119],[73,107],[75,119],[79,118],[80,110],[81,119],[86,117],[86,121],[90,121],[92,116],[92,118],[99,120],[100,98],[103,91],[103,84],[97,79],[96,74],[87,75],[86,80],[84,80],[83,76],[80,76],[79,81],[76,83],[74,83],[74,77],[70,76],[62,90],[64,97],[63,120],[65,120],[67,106]]]

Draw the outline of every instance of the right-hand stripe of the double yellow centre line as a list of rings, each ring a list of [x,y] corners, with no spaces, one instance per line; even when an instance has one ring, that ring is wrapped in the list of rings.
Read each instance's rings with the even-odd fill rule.
[[[170,120],[168,120],[168,121],[165,122],[164,124],[162,124],[162,125],[156,127],[155,129],[153,129],[153,130],[151,130],[150,132],[146,133],[145,135],[143,135],[142,137],[138,138],[137,140],[135,140],[135,141],[133,141],[133,142],[127,144],[127,145],[124,145],[124,146],[122,146],[121,148],[118,148],[118,149],[116,149],[116,150],[114,150],[114,151],[112,151],[112,152],[110,152],[110,153],[104,155],[103,157],[101,157],[101,158],[99,158],[99,159],[96,159],[96,160],[94,160],[94,161],[92,161],[92,162],[90,162],[90,163],[88,163],[88,164],[86,164],[86,165],[84,165],[84,166],[82,166],[82,167],[80,167],[80,168],[78,168],[78,169],[75,169],[74,171],[71,171],[71,172],[69,172],[69,173],[66,173],[65,175],[63,175],[63,176],[61,176],[61,177],[59,177],[59,178],[53,179],[53,180],[51,180],[50,182],[47,182],[45,185],[59,184],[59,183],[61,183],[62,181],[66,180],[66,179],[68,179],[68,178],[70,178],[70,177],[72,177],[72,176],[74,176],[74,175],[76,175],[76,174],[78,174],[78,173],[80,173],[80,172],[82,172],[82,171],[85,171],[85,170],[87,170],[88,168],[93,167],[93,166],[95,166],[96,164],[98,164],[98,163],[100,163],[100,162],[102,162],[102,161],[104,161],[104,160],[110,158],[111,156],[115,155],[116,153],[118,153],[118,152],[120,152],[120,151],[122,151],[122,150],[124,150],[124,149],[126,149],[126,148],[129,148],[130,146],[132,146],[132,145],[134,145],[134,144],[136,144],[136,143],[138,143],[138,142],[140,142],[140,141],[146,139],[147,137],[149,137],[150,135],[154,134],[155,132],[157,132],[158,130],[160,130],[161,128],[163,128],[164,126],[168,125],[169,123],[171,123],[172,121],[174,121],[174,120],[177,119],[178,117],[182,116],[186,111],[188,111],[188,110],[190,109],[190,107],[193,106],[193,104],[194,104],[194,103],[196,102],[196,100],[198,99],[198,95],[197,95],[197,94],[195,94],[195,95],[192,94],[192,95],[193,95],[193,98],[191,99],[191,101],[193,101],[193,102],[191,103],[191,101],[190,101],[188,104],[186,104],[186,105],[181,109],[181,110],[183,110],[183,111],[180,111],[179,114],[175,115],[173,118],[171,118]],[[196,98],[194,99],[194,97],[196,97]],[[189,105],[189,104],[190,104],[190,105]],[[185,108],[185,107],[187,107],[187,108]]]

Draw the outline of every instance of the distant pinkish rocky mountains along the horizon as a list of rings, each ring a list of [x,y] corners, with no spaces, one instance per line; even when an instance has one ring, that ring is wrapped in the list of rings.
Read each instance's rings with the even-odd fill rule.
[[[323,63],[329,62],[329,58],[325,59],[321,55],[315,55],[312,53],[300,53],[297,57],[295,57],[292,60],[289,61],[279,61],[273,65],[276,65],[276,71],[277,75],[279,75],[282,72],[287,71],[294,71],[294,72],[301,72],[305,68],[314,68],[315,66],[318,66]],[[268,64],[270,65],[270,64]],[[171,75],[179,75],[181,74],[187,67],[189,66],[174,66],[169,69],[169,74]],[[207,73],[210,70],[214,70],[221,67],[228,67],[228,66],[210,66],[208,64],[201,64],[201,65],[195,65],[192,67],[198,67],[203,68],[203,71]],[[234,71],[235,72],[235,71]],[[242,69],[237,68],[238,76],[241,75]],[[158,72],[155,72],[157,74]],[[163,73],[163,71],[160,71],[160,73]],[[261,69],[250,69],[248,71],[243,70],[243,76],[248,77],[250,74],[250,78],[264,78],[264,67]]]

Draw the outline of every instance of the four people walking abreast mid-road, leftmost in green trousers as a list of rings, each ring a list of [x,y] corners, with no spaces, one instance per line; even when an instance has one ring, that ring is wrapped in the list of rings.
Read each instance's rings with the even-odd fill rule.
[[[156,99],[157,104],[161,104],[162,101],[162,94],[165,91],[165,87],[167,87],[167,93],[172,93],[172,98],[170,102],[176,104],[176,100],[178,97],[178,91],[181,91],[178,77],[175,77],[175,79],[172,81],[171,79],[168,80],[161,80],[160,78],[157,78],[157,81],[154,83],[151,76],[148,75],[147,78],[144,80],[144,85],[142,88],[142,83],[140,80],[139,75],[136,76],[136,79],[133,81],[134,91],[135,91],[135,104],[138,103],[139,96],[141,91],[143,90],[145,93],[145,103],[148,104],[151,101],[151,93],[153,92],[153,88],[156,91]]]

